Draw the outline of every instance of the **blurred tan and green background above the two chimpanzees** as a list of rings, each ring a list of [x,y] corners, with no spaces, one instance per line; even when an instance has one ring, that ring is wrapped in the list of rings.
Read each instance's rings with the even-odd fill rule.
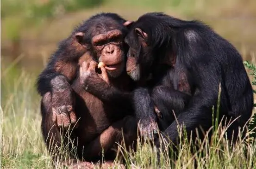
[[[36,73],[57,42],[91,15],[117,12],[135,20],[154,11],[204,21],[255,62],[256,0],[1,0],[1,64]]]

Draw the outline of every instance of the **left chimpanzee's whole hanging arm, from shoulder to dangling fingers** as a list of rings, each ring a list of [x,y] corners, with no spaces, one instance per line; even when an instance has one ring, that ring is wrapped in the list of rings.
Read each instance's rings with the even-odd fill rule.
[[[61,127],[76,122],[73,90],[70,82],[75,78],[78,63],[66,61],[53,55],[50,62],[37,79],[37,91],[41,96],[52,95],[52,120]]]

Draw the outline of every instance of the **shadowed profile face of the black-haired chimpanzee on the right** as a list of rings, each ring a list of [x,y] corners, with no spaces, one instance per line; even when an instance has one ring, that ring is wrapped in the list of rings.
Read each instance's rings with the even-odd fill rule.
[[[126,71],[134,81],[147,77],[153,64],[153,51],[147,44],[147,39],[148,35],[142,29],[136,27],[131,29],[125,37],[125,43],[129,46]]]

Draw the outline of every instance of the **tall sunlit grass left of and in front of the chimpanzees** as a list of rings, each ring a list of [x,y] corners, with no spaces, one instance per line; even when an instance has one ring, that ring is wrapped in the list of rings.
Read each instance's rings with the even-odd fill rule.
[[[35,76],[15,67],[7,69],[4,65],[1,72],[1,168],[62,168],[51,165],[42,140],[40,98],[34,87]],[[176,161],[171,154],[162,153],[161,168],[192,169],[195,163],[199,169],[255,168],[256,141],[239,140],[236,146],[231,147],[225,140],[224,131],[216,126],[213,141],[198,141],[200,150],[196,153],[191,152],[189,145],[192,143],[184,140],[178,146],[180,154]],[[129,153],[122,146],[119,147],[119,154],[125,157],[128,168],[159,168],[154,148],[149,144],[138,144],[137,147],[137,152]]]

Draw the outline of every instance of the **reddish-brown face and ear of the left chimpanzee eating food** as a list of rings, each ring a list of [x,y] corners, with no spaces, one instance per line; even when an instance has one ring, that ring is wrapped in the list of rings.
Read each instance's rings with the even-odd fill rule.
[[[90,37],[78,32],[75,37],[79,43],[91,51],[95,60],[103,62],[109,77],[118,77],[125,69],[124,25],[112,19],[92,25]]]

